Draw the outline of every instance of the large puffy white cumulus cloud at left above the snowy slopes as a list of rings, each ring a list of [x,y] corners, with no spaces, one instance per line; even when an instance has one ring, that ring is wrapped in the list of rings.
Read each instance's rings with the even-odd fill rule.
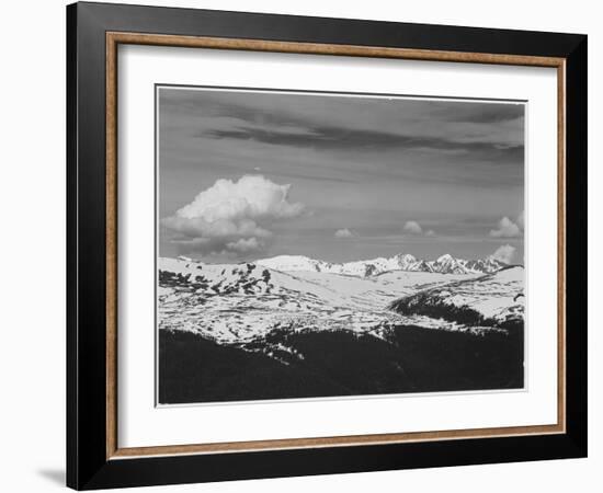
[[[297,217],[305,209],[304,204],[288,200],[289,188],[261,175],[218,180],[161,223],[177,234],[172,241],[189,251],[244,254],[265,250],[272,237],[266,226]]]

